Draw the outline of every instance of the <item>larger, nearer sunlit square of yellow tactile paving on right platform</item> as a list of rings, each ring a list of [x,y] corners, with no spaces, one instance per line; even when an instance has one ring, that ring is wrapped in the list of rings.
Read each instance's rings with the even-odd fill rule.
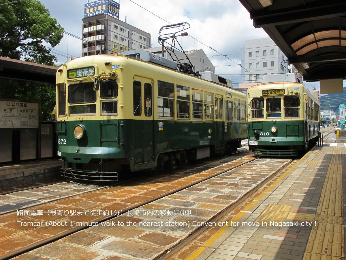
[[[284,222],[292,206],[268,204],[256,222]]]

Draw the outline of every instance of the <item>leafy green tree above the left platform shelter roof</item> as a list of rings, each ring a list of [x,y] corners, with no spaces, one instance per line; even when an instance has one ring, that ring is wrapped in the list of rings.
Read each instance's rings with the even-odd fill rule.
[[[54,66],[56,56],[44,42],[56,46],[63,27],[37,0],[0,0],[0,56]]]

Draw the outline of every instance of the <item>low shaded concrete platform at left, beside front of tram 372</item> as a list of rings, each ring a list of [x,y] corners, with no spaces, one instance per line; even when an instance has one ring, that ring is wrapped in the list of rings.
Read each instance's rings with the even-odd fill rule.
[[[17,186],[28,183],[34,185],[37,182],[57,179],[60,177],[60,168],[61,160],[57,159],[0,166],[0,193],[25,188]]]

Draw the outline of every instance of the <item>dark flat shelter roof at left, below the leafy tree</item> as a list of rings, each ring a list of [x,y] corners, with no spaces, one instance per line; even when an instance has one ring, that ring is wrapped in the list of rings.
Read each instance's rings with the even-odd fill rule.
[[[0,77],[55,85],[58,67],[0,57]]]

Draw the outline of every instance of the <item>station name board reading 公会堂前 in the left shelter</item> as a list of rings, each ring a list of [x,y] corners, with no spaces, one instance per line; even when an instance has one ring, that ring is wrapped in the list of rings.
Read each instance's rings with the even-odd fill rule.
[[[0,100],[0,128],[38,128],[39,103]]]

